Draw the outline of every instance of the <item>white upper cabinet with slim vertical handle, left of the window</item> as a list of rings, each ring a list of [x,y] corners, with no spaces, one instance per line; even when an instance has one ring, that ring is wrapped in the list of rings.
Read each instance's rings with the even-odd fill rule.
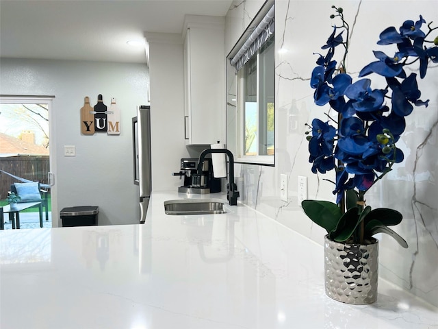
[[[185,16],[185,140],[226,143],[224,18]]]

